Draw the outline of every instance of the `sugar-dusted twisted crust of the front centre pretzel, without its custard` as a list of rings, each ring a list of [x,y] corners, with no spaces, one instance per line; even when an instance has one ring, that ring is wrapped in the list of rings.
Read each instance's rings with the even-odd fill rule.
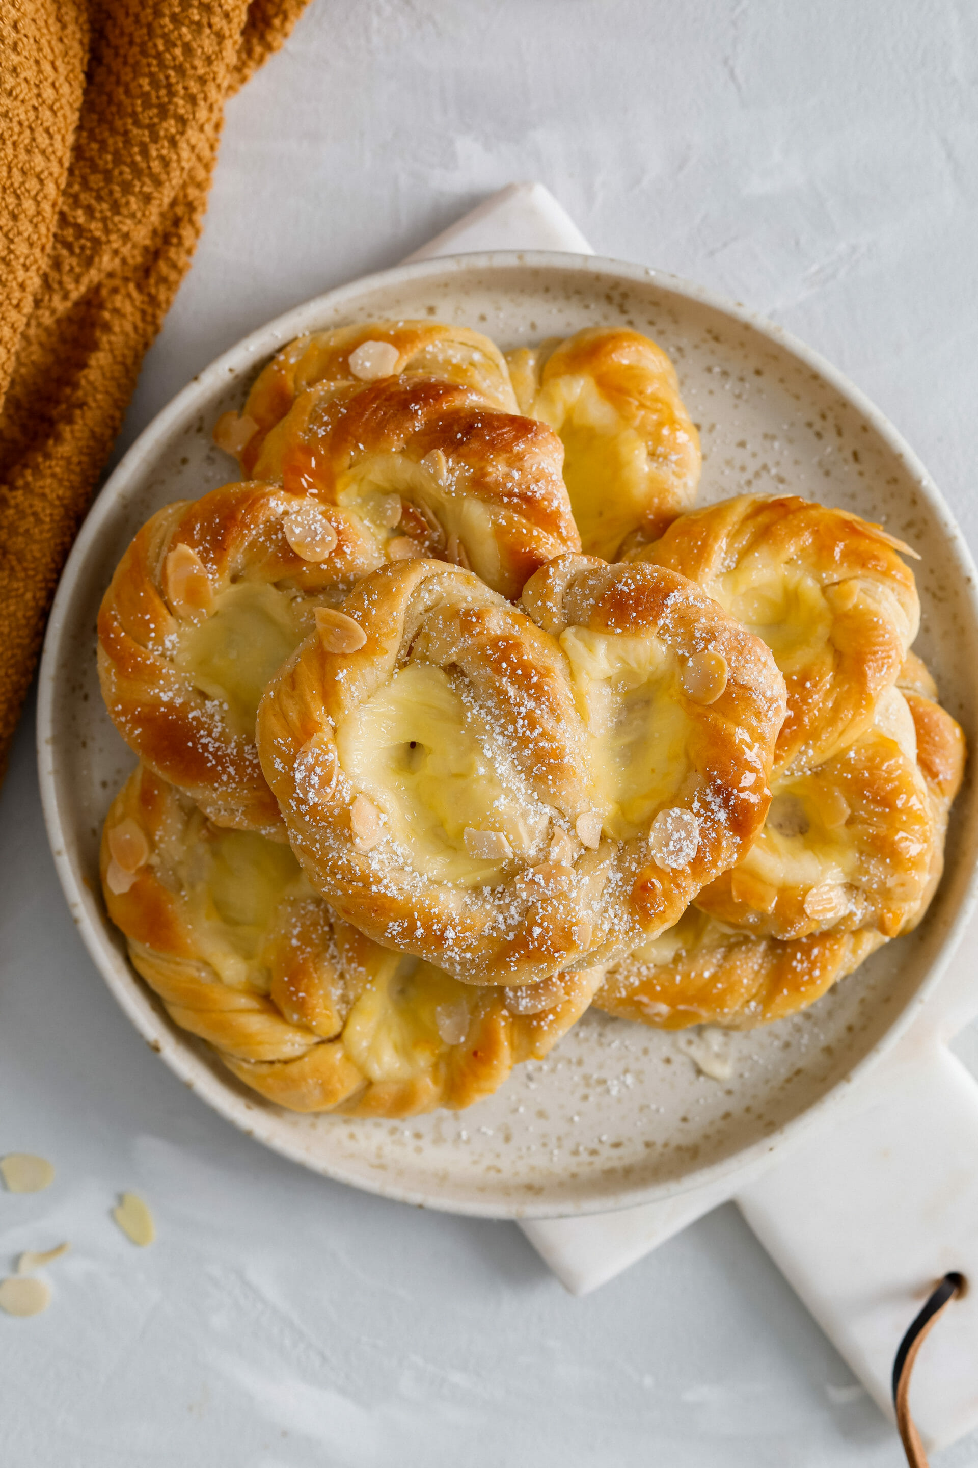
[[[669,926],[762,822],[783,718],[783,683],[764,644],[682,577],[566,556],[538,573],[526,605],[544,630],[463,571],[437,562],[377,571],[343,603],[364,646],[331,653],[318,640],[305,643],[258,715],[262,768],[314,885],[377,941],[472,984],[535,982],[584,960],[606,962],[639,934]],[[652,800],[630,838],[601,834],[601,819],[594,831],[587,825],[597,809],[588,730],[567,656],[551,634],[557,622],[567,628],[570,614],[598,636],[626,631],[632,647],[636,639],[641,646],[661,643],[676,668],[704,646],[730,668],[713,706],[674,696],[691,725],[692,775],[669,800]],[[408,666],[455,680],[459,697],[484,721],[487,763],[503,768],[493,765],[501,744],[522,781],[516,813],[503,810],[503,781],[494,797],[501,813],[475,832],[479,840],[490,826],[506,834],[485,876],[478,866],[459,879],[425,869],[416,831],[397,838],[386,788],[368,790],[374,829],[364,844],[355,806],[365,777],[349,778],[343,760],[350,765],[350,755],[340,757],[339,749],[350,722],[365,728],[364,709],[381,693],[389,697]],[[371,759],[364,759],[369,771]],[[377,759],[372,765],[380,768]],[[682,809],[698,831],[695,854],[670,868],[648,846],[650,821],[663,807]],[[521,821],[525,838],[513,834]],[[466,850],[471,834],[466,828]]]

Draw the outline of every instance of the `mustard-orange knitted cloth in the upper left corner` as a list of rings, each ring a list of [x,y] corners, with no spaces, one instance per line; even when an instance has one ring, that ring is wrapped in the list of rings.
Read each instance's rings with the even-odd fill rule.
[[[305,0],[0,0],[0,771],[59,573],[201,229],[224,101]]]

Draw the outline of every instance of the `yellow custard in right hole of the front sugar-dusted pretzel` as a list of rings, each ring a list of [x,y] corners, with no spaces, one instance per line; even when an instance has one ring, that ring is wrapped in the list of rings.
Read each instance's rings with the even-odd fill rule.
[[[689,772],[691,721],[674,655],[657,637],[560,634],[585,718],[594,809],[616,840],[644,835]]]

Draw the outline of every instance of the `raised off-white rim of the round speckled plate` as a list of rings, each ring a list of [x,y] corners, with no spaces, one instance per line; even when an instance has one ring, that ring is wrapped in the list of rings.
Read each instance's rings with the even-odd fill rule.
[[[138,471],[142,461],[148,459],[157,443],[166,437],[170,426],[183,418],[189,408],[208,392],[218,386],[226,376],[240,376],[258,360],[264,360],[277,348],[295,336],[314,329],[314,319],[326,311],[342,307],[346,301],[353,302],[359,295],[378,288],[396,288],[402,283],[424,280],[425,276],[444,276],[446,273],[463,275],[479,270],[499,270],[507,266],[521,269],[540,269],[556,272],[585,272],[595,276],[613,276],[632,282],[661,282],[670,292],[686,297],[691,301],[707,305],[735,321],[749,326],[752,330],[767,336],[771,342],[796,357],[804,366],[827,382],[840,398],[846,399],[859,413],[890,449],[903,459],[908,473],[916,482],[916,487],[927,499],[935,518],[940,521],[946,537],[947,549],[957,561],[962,580],[968,587],[966,599],[971,614],[978,625],[978,571],[968,548],[968,543],[950,512],[944,498],[937,489],[930,473],[906,443],[903,436],[887,418],[887,415],[852,383],[845,373],[836,368],[820,352],[805,342],[786,332],[782,326],[758,313],[749,311],[740,302],[730,301],[704,286],[685,280],[679,276],[650,266],[632,264],[606,255],[581,255],[565,251],[535,251],[535,250],[500,250],[479,251],[474,254],[456,254],[421,260],[412,264],[394,266],[389,270],[361,276],[331,291],[323,292],[298,307],[290,308],[264,326],[249,332],[238,344],[216,358],[207,368],[198,373],[170,402],[155,414],[142,433],[126,451],[116,468],[97,493],[95,501],[82,524],[82,528],[72,546],[65,564],[59,587],[51,605],[44,647],[40,664],[38,709],[37,709],[37,752],[38,780],[41,787],[41,804],[54,866],[62,890],[75,918],[81,938],[95,963],[95,967],[106,981],[116,1003],[128,1016],[135,1029],[160,1058],[185,1082],[198,1092],[224,1120],[230,1122],[248,1136],[270,1147],[279,1155],[287,1157],[312,1171],[349,1183],[361,1191],[371,1192],[397,1202],[427,1207],[437,1211],[447,1211],[469,1217],[485,1218],[551,1218],[575,1217],[585,1214],[600,1214],[619,1211],[622,1208],[639,1207],[648,1202],[666,1201],[667,1198],[688,1192],[691,1189],[708,1188],[723,1179],[746,1177],[755,1173],[764,1157],[782,1151],[787,1145],[795,1145],[812,1126],[823,1122],[827,1114],[839,1107],[849,1095],[853,1082],[861,1080],[886,1054],[893,1050],[897,1041],[906,1033],[919,1014],[921,1007],[930,1000],[943,973],[946,972],[962,934],[978,903],[978,869],[972,869],[968,882],[960,891],[957,907],[940,941],[940,947],[931,963],[927,978],[919,984],[913,1000],[903,1007],[894,1020],[886,1028],[875,1044],[858,1060],[852,1069],[833,1086],[809,1102],[790,1120],[782,1123],[771,1135],[764,1136],[740,1151],[718,1160],[689,1176],[670,1179],[651,1186],[626,1188],[616,1193],[609,1193],[600,1199],[582,1199],[573,1205],[562,1205],[554,1210],[554,1204],[526,1201],[506,1204],[500,1207],[484,1199],[452,1199],[440,1201],[431,1191],[418,1191],[397,1185],[386,1177],[364,1177],[342,1166],[320,1166],[314,1158],[304,1154],[299,1147],[290,1147],[277,1135],[262,1135],[260,1107],[245,1102],[230,1086],[221,1085],[211,1076],[173,1032],[166,1029],[160,1016],[152,1009],[148,995],[141,992],[141,981],[135,973],[122,964],[113,948],[104,941],[100,926],[89,918],[82,901],[81,884],[67,854],[63,838],[62,815],[57,804],[57,790],[54,774],[47,768],[45,750],[54,740],[54,680],[53,665],[57,658],[60,637],[65,628],[65,614],[79,578],[82,567],[92,543],[97,542],[103,521],[110,514],[116,496],[125,487],[129,477]],[[141,1003],[142,1001],[142,1003]],[[736,1191],[732,1183],[730,1195]]]

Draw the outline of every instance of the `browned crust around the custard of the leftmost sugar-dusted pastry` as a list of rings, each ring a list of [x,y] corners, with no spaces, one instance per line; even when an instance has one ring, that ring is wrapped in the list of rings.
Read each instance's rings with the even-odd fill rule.
[[[336,536],[333,550],[304,559],[287,539],[296,512],[308,515],[306,498],[264,484],[226,484],[167,505],[130,543],[98,614],[103,696],[130,749],[218,825],[254,826],[282,840],[282,816],[255,750],[254,711],[251,727],[246,712],[235,727],[230,705],[218,688],[198,686],[199,669],[186,653],[229,593],[240,605],[252,589],[273,618],[282,617],[284,658],[312,625],[317,605],[337,600],[381,564],[367,527],[333,505],[315,509],[327,539]],[[264,625],[261,605],[255,615]],[[271,653],[276,644],[273,637]],[[274,668],[265,671],[270,677]]]

